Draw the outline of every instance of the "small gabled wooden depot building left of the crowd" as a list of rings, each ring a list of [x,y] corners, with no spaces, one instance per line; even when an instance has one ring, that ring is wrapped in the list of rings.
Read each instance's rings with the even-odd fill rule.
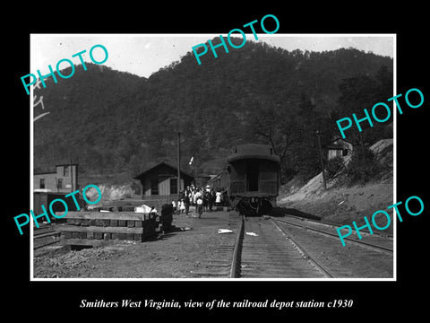
[[[193,182],[193,176],[181,170],[181,187],[178,190],[177,168],[168,162],[159,162],[133,179],[141,181],[142,199],[163,200],[167,204],[177,199],[178,191],[183,191]]]

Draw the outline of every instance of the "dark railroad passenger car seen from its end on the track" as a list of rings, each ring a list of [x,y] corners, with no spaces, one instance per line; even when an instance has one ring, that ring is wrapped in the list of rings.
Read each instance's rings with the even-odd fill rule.
[[[268,144],[241,144],[228,156],[225,172],[230,205],[239,214],[262,215],[276,205],[280,157]]]

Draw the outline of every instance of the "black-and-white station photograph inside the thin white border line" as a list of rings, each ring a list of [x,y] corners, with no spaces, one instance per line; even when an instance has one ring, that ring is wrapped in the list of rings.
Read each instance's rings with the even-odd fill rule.
[[[395,277],[395,36],[256,38],[31,35],[34,279]]]

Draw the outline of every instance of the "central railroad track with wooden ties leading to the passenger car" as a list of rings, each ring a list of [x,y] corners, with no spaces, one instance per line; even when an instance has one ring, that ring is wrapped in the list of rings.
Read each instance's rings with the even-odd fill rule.
[[[198,277],[286,278],[333,277],[326,268],[286,237],[285,231],[262,218],[229,215],[235,234],[220,234],[219,247],[204,261]],[[271,220],[269,220],[271,222]]]

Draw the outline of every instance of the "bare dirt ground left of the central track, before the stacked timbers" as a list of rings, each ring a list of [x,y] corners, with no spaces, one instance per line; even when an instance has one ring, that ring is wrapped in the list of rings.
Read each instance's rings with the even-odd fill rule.
[[[70,250],[49,246],[34,255],[35,278],[189,278],[202,269],[219,244],[219,229],[230,229],[228,212],[202,218],[174,215],[176,229],[147,242],[118,241],[101,248]],[[233,233],[234,234],[234,233]]]

